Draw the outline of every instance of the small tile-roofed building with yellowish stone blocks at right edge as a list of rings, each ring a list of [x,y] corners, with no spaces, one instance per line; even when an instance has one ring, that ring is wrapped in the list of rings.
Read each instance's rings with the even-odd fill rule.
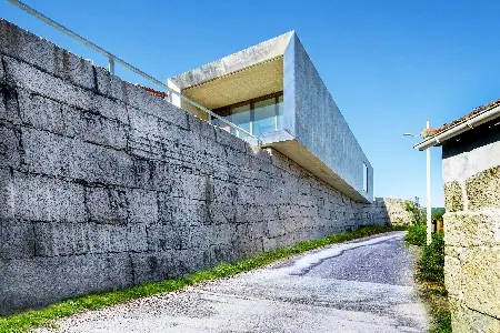
[[[453,332],[500,332],[500,100],[422,137],[442,145]]]

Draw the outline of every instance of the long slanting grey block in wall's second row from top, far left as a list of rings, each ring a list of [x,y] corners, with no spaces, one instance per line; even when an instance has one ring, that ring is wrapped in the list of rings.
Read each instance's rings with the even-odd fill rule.
[[[92,93],[64,80],[42,72],[24,62],[4,57],[7,82],[71,107],[90,110]]]

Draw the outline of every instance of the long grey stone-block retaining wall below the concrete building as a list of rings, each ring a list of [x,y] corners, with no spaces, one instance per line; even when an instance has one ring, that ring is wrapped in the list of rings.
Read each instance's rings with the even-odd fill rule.
[[[0,314],[384,223],[0,20]]]

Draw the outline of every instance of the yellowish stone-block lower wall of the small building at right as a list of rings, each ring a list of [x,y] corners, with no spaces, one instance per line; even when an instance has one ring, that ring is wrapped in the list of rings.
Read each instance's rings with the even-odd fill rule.
[[[500,332],[500,167],[444,184],[453,332]]]

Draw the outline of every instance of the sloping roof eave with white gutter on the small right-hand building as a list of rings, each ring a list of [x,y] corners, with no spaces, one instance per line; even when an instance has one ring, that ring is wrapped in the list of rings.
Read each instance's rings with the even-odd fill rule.
[[[478,125],[486,123],[498,117],[500,117],[500,107],[496,107],[486,112],[479,113],[472,118],[466,119],[464,121],[456,124],[454,127],[451,127],[451,128],[447,129],[446,131],[440,132],[420,143],[413,145],[413,148],[422,151],[422,150],[426,150],[426,149],[434,147],[434,145],[440,145],[442,142],[444,142],[451,138],[454,138],[463,132],[467,132],[467,131],[473,129],[474,127],[478,127]]]

